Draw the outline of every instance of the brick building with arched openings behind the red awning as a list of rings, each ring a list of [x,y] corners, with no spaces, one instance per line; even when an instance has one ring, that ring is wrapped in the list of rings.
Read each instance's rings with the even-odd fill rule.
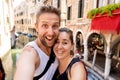
[[[104,79],[119,79],[119,68],[116,72],[112,72],[112,68],[119,64],[120,56],[120,35],[117,32],[111,31],[101,32],[99,29],[91,30],[92,19],[87,18],[89,10],[114,4],[120,2],[119,0],[66,0],[66,27],[74,31],[74,41],[76,43],[77,35],[80,38],[80,53],[84,56],[84,62],[87,66],[92,68],[95,72],[102,75]],[[60,2],[62,3],[62,2]],[[60,5],[63,6],[62,4]],[[62,11],[63,8],[61,8]],[[102,26],[101,26],[102,27]],[[119,27],[119,25],[118,25]],[[116,46],[116,53],[114,47]],[[91,48],[92,47],[92,48]],[[94,49],[95,47],[95,49]],[[77,49],[75,45],[75,50]],[[92,53],[91,50],[92,49]],[[96,62],[94,63],[94,51],[97,50]],[[115,59],[115,58],[119,59]],[[101,64],[102,63],[102,64]],[[93,67],[94,65],[94,67]],[[111,66],[112,65],[112,66]],[[119,65],[120,66],[120,65]],[[118,71],[118,72],[117,72]],[[115,74],[115,75],[113,75]],[[112,76],[112,77],[111,77]],[[113,76],[115,76],[113,78]],[[117,77],[116,77],[117,76]]]

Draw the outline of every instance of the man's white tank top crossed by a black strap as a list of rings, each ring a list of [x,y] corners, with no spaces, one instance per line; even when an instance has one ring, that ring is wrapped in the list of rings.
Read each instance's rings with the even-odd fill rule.
[[[35,74],[34,74],[34,77],[35,76],[38,76],[40,75],[46,65],[47,65],[47,62],[49,60],[49,56],[46,55],[39,47],[38,45],[32,41],[32,42],[29,42],[26,46],[32,46],[35,48],[35,50],[37,51],[37,53],[39,54],[39,57],[40,57],[40,65],[39,67],[36,69],[35,71]],[[49,67],[48,71],[39,79],[39,80],[52,80],[52,77],[55,73],[55,70],[56,68],[58,67],[58,60],[55,58],[55,61],[54,63],[51,64],[51,66]]]

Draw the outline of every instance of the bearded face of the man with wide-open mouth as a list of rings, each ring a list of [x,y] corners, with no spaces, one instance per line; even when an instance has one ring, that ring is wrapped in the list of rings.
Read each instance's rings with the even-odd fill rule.
[[[53,46],[60,26],[60,19],[56,14],[43,13],[39,16],[38,23],[36,24],[36,31],[38,38],[45,47]]]

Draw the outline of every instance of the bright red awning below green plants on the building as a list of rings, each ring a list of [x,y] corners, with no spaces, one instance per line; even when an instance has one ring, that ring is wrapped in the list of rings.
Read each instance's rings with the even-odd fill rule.
[[[120,32],[120,9],[112,12],[113,16],[107,14],[98,15],[92,19],[91,29],[105,32]]]

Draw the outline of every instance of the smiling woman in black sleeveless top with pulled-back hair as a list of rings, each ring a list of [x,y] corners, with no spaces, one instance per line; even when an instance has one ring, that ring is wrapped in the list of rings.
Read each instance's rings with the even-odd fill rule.
[[[79,58],[73,57],[73,33],[68,28],[60,28],[59,36],[54,45],[54,52],[59,60],[58,69],[53,80],[86,80],[84,64]]]

